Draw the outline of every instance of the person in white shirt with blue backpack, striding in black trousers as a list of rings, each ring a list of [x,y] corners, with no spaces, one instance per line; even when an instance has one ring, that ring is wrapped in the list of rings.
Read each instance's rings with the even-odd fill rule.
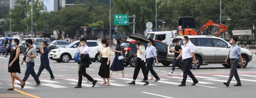
[[[86,68],[89,67],[89,61],[91,57],[91,52],[89,47],[86,44],[86,38],[80,39],[80,68],[78,70],[78,84],[75,88],[82,88],[82,76],[85,76],[90,82],[92,82],[92,87],[95,86],[97,80],[94,80],[89,74],[86,73]],[[85,56],[84,56],[85,55]]]

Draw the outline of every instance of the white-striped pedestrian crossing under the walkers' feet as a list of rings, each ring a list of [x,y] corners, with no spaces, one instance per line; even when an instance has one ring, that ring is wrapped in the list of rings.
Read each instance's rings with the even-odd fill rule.
[[[242,82],[256,82],[256,75],[247,75],[247,74],[241,74],[240,76],[243,76],[244,78],[240,78]],[[198,84],[196,86],[200,87],[206,87],[206,88],[218,88],[222,82],[227,82],[228,80],[228,75],[210,75],[210,76],[195,76],[198,79]],[[138,77],[139,79],[136,80],[136,85],[142,86],[144,82],[141,82],[143,77]],[[154,80],[149,80],[149,85],[148,86],[158,86],[158,85],[164,85],[164,84],[170,84],[170,85],[180,85],[183,77],[182,76],[164,76],[160,77],[161,80],[158,82],[153,82]],[[103,84],[102,78],[94,78],[94,80],[97,80],[97,84],[95,87],[102,87],[100,86]],[[110,86],[131,86],[128,83],[131,82],[133,79],[132,77],[129,78],[110,78]],[[10,85],[10,80],[8,80],[8,85]],[[50,88],[70,88],[75,85],[77,85],[78,79],[76,78],[57,78],[56,80],[46,80],[46,79],[40,79],[41,81],[41,86],[32,86],[34,85],[33,83],[26,82],[26,86],[24,89],[40,89],[42,87],[50,87]],[[15,87],[20,88],[16,83],[20,83],[18,80],[15,81]],[[187,78],[186,83],[193,83],[192,79]],[[235,78],[232,79],[230,83],[236,83]],[[0,83],[0,86],[3,86],[3,82]],[[218,84],[218,85],[217,85]],[[84,87],[92,87],[92,82],[87,82],[86,79],[82,80],[82,86]]]

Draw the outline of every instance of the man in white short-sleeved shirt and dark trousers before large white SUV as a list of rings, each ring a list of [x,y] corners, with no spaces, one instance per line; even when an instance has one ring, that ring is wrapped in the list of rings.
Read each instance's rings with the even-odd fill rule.
[[[188,76],[192,78],[193,84],[196,85],[198,83],[198,80],[194,76],[194,74],[190,71],[190,68],[192,67],[192,60],[194,60],[194,64],[196,65],[196,57],[195,57],[195,46],[189,42],[188,36],[184,36],[183,38],[183,47],[180,55],[176,58],[178,60],[182,56],[184,69],[183,69],[183,79],[179,86],[186,86],[186,79]],[[192,59],[193,58],[193,59]]]

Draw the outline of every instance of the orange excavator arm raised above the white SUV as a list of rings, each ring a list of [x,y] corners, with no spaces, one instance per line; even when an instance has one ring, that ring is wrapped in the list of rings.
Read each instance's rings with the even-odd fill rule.
[[[226,30],[228,30],[228,26],[225,24],[220,24],[219,22],[215,22],[213,20],[208,20],[208,22],[206,22],[204,24],[204,26],[202,26],[202,28],[197,32],[198,35],[210,35],[209,30],[211,30],[210,26],[216,26],[216,27],[220,27],[220,29],[214,33],[214,36],[219,36],[222,32],[226,32]]]

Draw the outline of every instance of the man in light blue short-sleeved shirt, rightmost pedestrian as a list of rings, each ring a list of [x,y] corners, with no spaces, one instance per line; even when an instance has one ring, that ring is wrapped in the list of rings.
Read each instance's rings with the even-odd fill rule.
[[[230,59],[230,74],[228,78],[228,82],[223,82],[227,87],[229,86],[229,83],[231,82],[233,76],[236,78],[237,84],[234,86],[242,86],[240,78],[238,76],[236,66],[239,64],[239,58],[240,62],[243,62],[242,55],[241,55],[241,48],[236,44],[238,38],[236,36],[232,36],[230,39],[230,44],[232,45],[230,47],[230,50],[228,52],[228,56],[225,60],[225,63],[228,64],[228,58]],[[241,67],[244,67],[244,64],[241,63]]]

